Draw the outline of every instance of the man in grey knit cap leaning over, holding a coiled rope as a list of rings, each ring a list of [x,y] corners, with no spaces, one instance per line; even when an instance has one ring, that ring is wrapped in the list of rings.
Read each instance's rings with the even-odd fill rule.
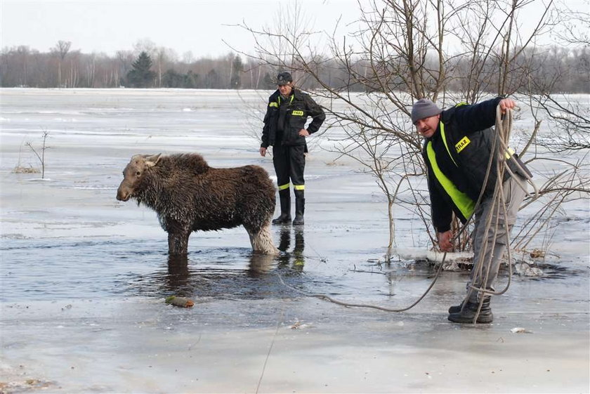
[[[494,291],[493,284],[498,275],[501,256],[516,221],[518,207],[526,194],[520,185],[525,185],[525,176],[531,176],[512,150],[504,152],[502,156],[506,157],[515,175],[504,172],[502,185],[505,206],[494,204],[492,197],[498,176],[497,152],[501,147],[499,141],[495,140],[497,136],[492,126],[496,121],[498,105],[502,113],[516,106],[510,98],[494,98],[476,105],[459,104],[442,111],[431,100],[423,98],[412,107],[412,123],[419,135],[424,137],[422,155],[428,167],[432,220],[440,249],[452,250],[453,213],[462,223],[475,214],[473,268],[466,298],[461,305],[449,309],[448,318],[452,322],[474,323],[476,315],[478,323],[492,322],[494,317],[490,308],[490,295],[473,290],[473,287]],[[490,157],[492,164],[487,176]],[[520,164],[520,168],[516,163]],[[476,206],[480,192],[483,195]],[[486,219],[490,215],[492,225],[486,231]]]

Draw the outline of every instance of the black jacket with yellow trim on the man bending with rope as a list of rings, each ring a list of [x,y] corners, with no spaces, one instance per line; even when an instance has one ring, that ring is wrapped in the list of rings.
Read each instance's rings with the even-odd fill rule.
[[[445,188],[442,187],[440,179],[435,176],[433,163],[428,158],[428,142],[432,142],[432,149],[435,152],[436,164],[451,183],[464,193],[473,204],[478,201],[480,192],[485,186],[483,198],[491,196],[494,192],[497,179],[497,166],[495,160],[490,166],[490,175],[484,185],[485,175],[490,165],[492,149],[497,152],[499,143],[494,141],[496,133],[493,128],[496,122],[496,107],[501,98],[483,101],[475,105],[457,105],[449,110],[442,111],[440,122],[444,126],[445,141],[442,140],[441,125],[434,135],[424,143],[422,155],[428,166],[428,190],[431,197],[432,220],[438,232],[450,230],[452,212],[461,222],[468,219],[461,212],[461,209],[453,202]],[[496,157],[494,155],[494,157]],[[518,156],[513,159],[520,162]],[[509,161],[510,165],[510,161]],[[511,169],[514,169],[511,166]],[[527,173],[530,175],[530,173]],[[509,177],[504,172],[504,180]]]

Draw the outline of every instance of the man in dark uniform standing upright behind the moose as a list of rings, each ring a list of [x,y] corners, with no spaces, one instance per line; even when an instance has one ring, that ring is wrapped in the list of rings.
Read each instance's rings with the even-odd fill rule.
[[[277,75],[277,86],[277,91],[268,98],[260,155],[266,156],[268,146],[273,145],[273,164],[277,173],[281,206],[281,214],[273,223],[291,223],[290,179],[295,192],[293,224],[302,225],[306,202],[306,184],[303,180],[305,153],[308,151],[306,137],[320,129],[326,115],[322,107],[308,94],[294,88],[289,72],[280,72]],[[306,129],[308,117],[312,121]]]

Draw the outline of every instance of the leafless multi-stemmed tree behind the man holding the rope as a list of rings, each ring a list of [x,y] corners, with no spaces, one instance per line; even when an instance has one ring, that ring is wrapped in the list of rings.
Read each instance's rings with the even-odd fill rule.
[[[539,6],[544,13],[535,27],[521,32],[520,18]],[[327,133],[340,135],[332,138],[334,150],[372,173],[386,195],[391,248],[395,208],[408,209],[429,228],[421,140],[407,116],[414,100],[428,97],[444,107],[530,86],[535,67],[527,50],[557,23],[552,10],[551,1],[535,0],[374,0],[361,8],[352,40],[327,33],[324,47],[313,46],[317,33],[300,29],[296,8],[284,14],[289,18],[281,20],[288,22],[279,28],[240,27],[256,40],[251,58],[293,70],[305,76],[304,86],[320,88],[315,94],[332,115]],[[451,52],[451,44],[459,50]],[[454,91],[457,82],[461,89]],[[459,239],[457,247],[468,245],[468,239]]]

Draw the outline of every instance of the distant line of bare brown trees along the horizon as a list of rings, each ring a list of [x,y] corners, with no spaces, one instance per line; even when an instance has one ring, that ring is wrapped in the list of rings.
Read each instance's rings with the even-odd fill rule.
[[[273,89],[273,77],[280,71],[272,65],[247,59],[235,53],[218,58],[194,60],[186,56],[179,60],[169,50],[118,51],[113,57],[105,54],[70,51],[70,41],[58,41],[48,53],[28,46],[4,48],[0,52],[0,86],[33,88],[214,88],[214,89]],[[553,47],[544,51],[523,51],[522,67],[513,71],[518,91],[526,80],[545,81],[551,91],[543,93],[590,93],[589,48]],[[329,59],[313,59],[320,80],[327,86],[349,91],[366,91],[367,84],[357,84],[351,74],[374,72],[367,60],[359,59],[354,65],[341,65]],[[473,70],[467,58],[457,55],[447,67],[446,88],[461,90]],[[482,61],[482,69],[490,74],[500,65]],[[388,65],[382,65],[386,70]],[[354,72],[351,72],[353,70]],[[296,83],[306,89],[322,88],[312,79]],[[400,75],[398,78],[403,79]],[[314,79],[315,80],[315,79]],[[518,82],[517,82],[518,81]],[[539,86],[539,84],[536,84]],[[481,86],[493,92],[495,86]],[[379,90],[375,87],[375,90]]]

